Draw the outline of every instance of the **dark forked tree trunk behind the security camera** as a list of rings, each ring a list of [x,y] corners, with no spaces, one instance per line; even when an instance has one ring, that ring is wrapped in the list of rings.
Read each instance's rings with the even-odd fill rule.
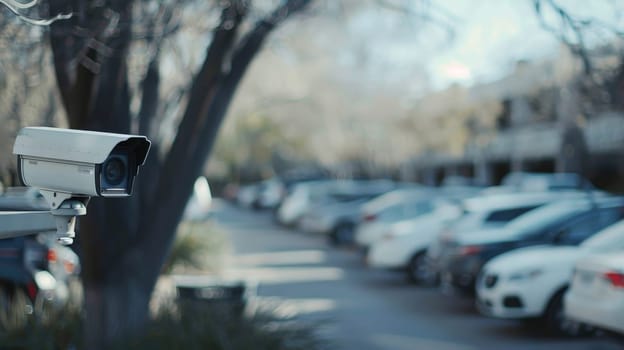
[[[131,117],[126,57],[132,1],[109,0],[107,5],[119,14],[119,23],[126,25],[111,37],[98,37],[95,30],[95,37],[86,40],[70,33],[75,33],[74,27],[79,25],[92,28],[92,9],[81,11],[86,7],[80,5],[85,3],[72,1],[78,9],[75,18],[53,24],[50,32],[57,83],[70,126],[128,133]],[[59,2],[63,3],[51,0],[51,10],[64,10]],[[83,266],[87,348],[106,349],[120,336],[144,327],[161,266],[238,84],[269,33],[309,2],[285,2],[238,45],[236,34],[246,14],[246,1],[223,2],[221,25],[215,29],[206,59],[194,77],[186,112],[163,165],[156,158],[158,152],[152,150],[148,166],[143,169],[150,171],[142,171],[137,179],[135,196],[93,198],[89,203],[88,215],[80,219],[77,238]],[[88,45],[89,40],[105,42],[112,53],[96,50],[93,47],[98,45]],[[76,62],[73,55],[79,56],[78,62],[82,57],[84,64],[72,66]],[[229,71],[224,69],[227,66],[231,67]],[[145,83],[158,84],[158,71],[151,68],[148,73],[155,75],[148,76]],[[144,102],[153,103],[157,91],[157,86],[147,86]],[[139,127],[149,131],[157,109],[143,107]]]

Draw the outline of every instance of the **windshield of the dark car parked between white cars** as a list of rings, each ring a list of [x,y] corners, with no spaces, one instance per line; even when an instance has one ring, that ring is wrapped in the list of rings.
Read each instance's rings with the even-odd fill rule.
[[[572,217],[581,211],[583,211],[582,206],[548,205],[511,220],[505,227],[509,228],[511,232],[530,233],[549,224]]]

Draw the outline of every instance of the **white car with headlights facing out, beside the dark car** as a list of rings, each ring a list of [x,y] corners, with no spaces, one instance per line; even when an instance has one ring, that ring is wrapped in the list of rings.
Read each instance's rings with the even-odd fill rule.
[[[562,317],[562,297],[574,264],[581,258],[624,249],[624,221],[611,225],[579,246],[535,246],[490,260],[477,281],[481,313],[508,319],[542,318],[556,334],[580,335],[587,330]]]

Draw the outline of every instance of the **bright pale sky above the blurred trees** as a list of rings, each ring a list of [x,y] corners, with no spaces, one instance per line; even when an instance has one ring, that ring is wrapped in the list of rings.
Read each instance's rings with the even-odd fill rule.
[[[446,36],[444,26],[423,25],[407,16],[400,20],[396,12],[385,10],[384,13],[378,6],[363,11],[351,21],[351,34],[355,38],[364,35],[359,40],[370,43],[368,61],[377,66],[382,79],[404,78],[406,68],[418,65],[426,67],[429,89],[440,90],[453,83],[473,85],[508,74],[519,60],[539,61],[556,56],[561,50],[559,41],[540,26],[532,0],[428,3],[432,7],[427,13],[452,23],[453,39]],[[620,16],[614,13],[611,0],[559,0],[559,3],[582,16],[611,22]],[[546,14],[549,23],[558,23]]]

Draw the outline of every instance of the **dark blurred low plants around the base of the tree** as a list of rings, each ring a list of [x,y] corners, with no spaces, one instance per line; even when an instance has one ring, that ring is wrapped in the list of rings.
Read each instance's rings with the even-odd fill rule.
[[[292,326],[269,315],[245,317],[230,308],[199,301],[162,307],[139,336],[125,337],[111,349],[289,349],[327,348],[311,326]],[[32,318],[23,327],[0,333],[2,349],[88,349],[81,344],[83,315],[75,308],[54,311],[47,321]]]

